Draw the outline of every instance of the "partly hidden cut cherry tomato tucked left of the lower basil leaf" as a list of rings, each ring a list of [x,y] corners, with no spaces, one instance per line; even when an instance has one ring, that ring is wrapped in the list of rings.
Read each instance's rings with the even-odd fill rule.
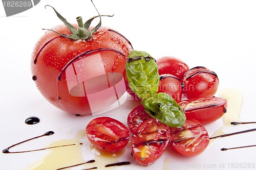
[[[145,111],[145,108],[142,106],[142,104],[135,107],[127,116],[127,124],[130,132],[133,135],[136,134],[139,125],[148,118],[152,118],[152,116]]]

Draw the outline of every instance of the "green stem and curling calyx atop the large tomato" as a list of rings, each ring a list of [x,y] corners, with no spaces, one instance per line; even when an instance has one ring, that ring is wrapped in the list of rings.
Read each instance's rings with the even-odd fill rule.
[[[92,2],[92,1],[91,1]],[[93,3],[93,2],[92,2]],[[47,5],[49,7],[52,7],[50,5]],[[45,6],[45,7],[47,7]],[[93,4],[93,6],[95,7],[95,5]],[[53,8],[53,7],[52,7]],[[97,8],[95,7],[96,11],[98,12]],[[53,8],[53,10],[55,11],[55,13],[57,14],[58,18],[65,23],[65,25],[67,26],[67,28],[70,30],[71,35],[66,35],[66,34],[60,34],[54,30],[49,30],[49,29],[43,29],[43,30],[49,30],[49,31],[53,31],[56,34],[62,36],[62,37],[66,37],[72,40],[78,40],[78,39],[84,39],[84,40],[89,40],[92,36],[92,34],[94,34],[101,26],[101,16],[109,16],[112,17],[113,15],[100,15],[98,12],[98,16],[94,16],[91,19],[89,19],[88,21],[86,21],[85,23],[83,23],[82,21],[82,17],[78,16],[76,17],[76,21],[78,23],[78,28],[76,29],[74,26],[71,25],[71,23],[69,23],[64,17],[62,17],[56,10],[55,8]],[[89,30],[89,27],[91,25],[91,22],[93,21],[93,19],[99,17],[99,23],[97,26],[95,26],[92,30]]]

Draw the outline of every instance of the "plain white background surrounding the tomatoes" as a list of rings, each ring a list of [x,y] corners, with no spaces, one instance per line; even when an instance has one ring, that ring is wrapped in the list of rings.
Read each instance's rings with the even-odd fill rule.
[[[67,1],[68,2],[68,1]],[[97,15],[89,0],[41,2],[32,9],[6,17],[0,5],[0,149],[43,134],[49,130],[59,132],[56,139],[72,137],[84,129],[92,116],[75,117],[49,104],[39,93],[30,72],[30,60],[34,44],[50,29],[61,24],[51,5],[66,19],[75,23],[75,17],[83,20]],[[118,1],[94,0],[103,17],[102,25],[113,28],[129,39],[135,50],[145,51],[153,57],[175,56],[189,67],[205,66],[215,71],[221,88],[236,88],[244,96],[241,112],[243,121],[256,121],[255,112],[255,63],[256,63],[256,1]],[[94,22],[94,25],[97,23]],[[105,113],[125,123],[125,115],[138,103],[128,101]],[[122,116],[120,116],[120,114]],[[34,126],[24,123],[29,116],[38,116],[41,122]],[[209,134],[221,127],[221,120],[207,126]],[[230,132],[256,128],[243,125]],[[255,133],[218,139],[206,151],[194,158],[183,158],[165,153],[175,163],[188,162],[217,164],[223,162],[256,163],[256,147],[220,151],[220,148],[256,144]],[[45,147],[53,138],[41,144]],[[1,169],[23,169],[33,162],[35,155],[6,155],[0,153]],[[162,169],[163,158],[154,169]],[[126,168],[141,168],[136,163]],[[218,167],[218,166],[217,166]],[[146,168],[145,168],[146,169]],[[181,168],[185,169],[185,168]],[[196,169],[196,168],[188,168]],[[206,168],[205,168],[206,169]]]

